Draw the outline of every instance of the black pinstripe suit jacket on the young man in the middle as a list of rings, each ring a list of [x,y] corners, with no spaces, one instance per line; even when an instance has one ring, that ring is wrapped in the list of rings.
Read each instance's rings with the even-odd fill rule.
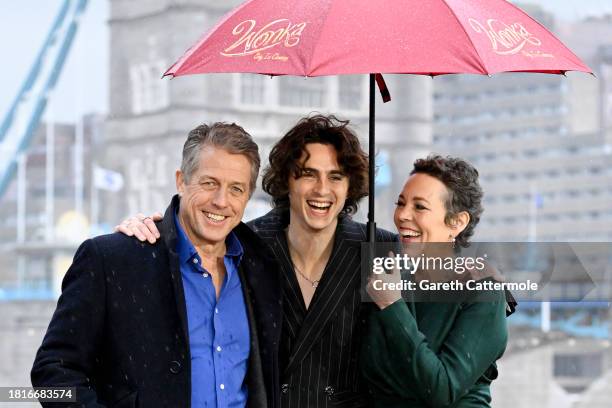
[[[362,407],[358,358],[365,315],[360,294],[364,224],[341,217],[330,259],[307,310],[289,257],[284,230],[288,211],[272,210],[249,226],[281,266],[283,320],[280,340],[281,407]],[[377,231],[377,241],[395,241]]]

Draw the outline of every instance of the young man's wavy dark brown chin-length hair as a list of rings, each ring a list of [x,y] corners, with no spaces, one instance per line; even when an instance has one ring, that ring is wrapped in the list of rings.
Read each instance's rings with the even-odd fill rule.
[[[336,149],[340,169],[349,178],[348,194],[340,214],[357,211],[359,200],[368,195],[368,156],[348,125],[348,120],[334,115],[307,116],[274,145],[270,163],[263,171],[262,187],[272,196],[275,208],[289,208],[289,175],[300,177],[300,158],[306,145],[321,143]]]

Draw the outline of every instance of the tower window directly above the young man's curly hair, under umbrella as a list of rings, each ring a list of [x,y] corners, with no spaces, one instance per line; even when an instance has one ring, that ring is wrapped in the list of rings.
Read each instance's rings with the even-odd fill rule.
[[[327,105],[327,89],[327,81],[323,77],[281,77],[279,78],[280,105],[296,108],[323,108]]]

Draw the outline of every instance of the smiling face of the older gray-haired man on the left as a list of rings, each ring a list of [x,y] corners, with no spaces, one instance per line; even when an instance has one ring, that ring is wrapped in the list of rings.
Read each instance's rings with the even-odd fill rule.
[[[205,146],[199,166],[187,182],[179,170],[179,219],[196,247],[217,245],[240,223],[250,197],[251,163],[241,154]]]

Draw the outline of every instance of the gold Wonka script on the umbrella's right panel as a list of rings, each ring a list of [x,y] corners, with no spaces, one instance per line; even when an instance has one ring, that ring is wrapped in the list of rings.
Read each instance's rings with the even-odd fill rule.
[[[493,52],[498,55],[518,54],[527,43],[536,47],[542,44],[521,23],[508,25],[494,18],[488,19],[486,26],[473,18],[470,18],[469,22],[474,31],[486,34],[491,41]]]

